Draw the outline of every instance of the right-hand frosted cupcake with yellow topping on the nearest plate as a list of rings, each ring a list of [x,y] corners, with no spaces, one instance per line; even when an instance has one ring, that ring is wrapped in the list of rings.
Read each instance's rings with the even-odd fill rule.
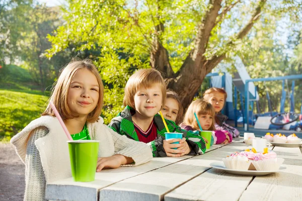
[[[273,171],[278,170],[283,163],[283,158],[277,158],[277,154],[273,151],[268,151],[264,148],[263,153],[257,153],[252,164],[258,171]]]

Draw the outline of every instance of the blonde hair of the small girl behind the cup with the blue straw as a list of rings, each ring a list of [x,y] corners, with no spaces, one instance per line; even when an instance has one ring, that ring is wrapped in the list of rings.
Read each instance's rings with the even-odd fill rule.
[[[214,126],[215,110],[210,103],[206,102],[203,99],[194,100],[190,104],[190,106],[185,114],[183,124],[190,125],[193,129],[199,130],[199,126],[198,126],[198,123],[194,116],[194,113],[196,113],[197,117],[200,115],[210,115],[213,118],[213,122],[212,122],[212,125],[210,126],[209,130],[210,131],[215,130],[215,126]]]

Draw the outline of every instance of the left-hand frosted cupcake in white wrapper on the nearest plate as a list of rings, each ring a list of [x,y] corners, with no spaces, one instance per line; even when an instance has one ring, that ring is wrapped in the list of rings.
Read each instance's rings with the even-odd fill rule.
[[[251,164],[248,157],[239,152],[235,152],[231,154],[231,156],[222,158],[222,161],[226,168],[235,170],[248,170]]]

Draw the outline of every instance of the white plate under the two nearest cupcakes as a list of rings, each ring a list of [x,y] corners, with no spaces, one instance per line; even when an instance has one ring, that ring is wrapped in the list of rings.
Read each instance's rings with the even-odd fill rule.
[[[257,171],[257,170],[234,170],[234,169],[228,169],[225,167],[224,163],[222,161],[217,161],[217,162],[212,162],[210,164],[211,167],[224,170],[228,173],[231,174],[237,174],[237,175],[248,175],[248,176],[263,176],[267,175],[273,172],[278,172],[280,170],[286,169],[284,166],[280,166],[278,170],[273,170],[273,171]]]

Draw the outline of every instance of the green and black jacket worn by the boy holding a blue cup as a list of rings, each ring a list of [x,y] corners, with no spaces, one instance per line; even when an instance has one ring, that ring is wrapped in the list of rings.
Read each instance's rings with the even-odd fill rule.
[[[127,106],[121,113],[111,120],[108,126],[120,135],[126,135],[128,138],[139,141],[134,129],[131,112],[135,112],[135,110]],[[186,138],[186,142],[191,148],[191,152],[188,155],[204,154],[206,150],[205,142],[198,133],[195,134],[192,131],[182,130],[173,121],[167,119],[165,119],[165,121],[170,132],[183,133],[184,138]],[[156,140],[149,142],[148,145],[151,146],[154,157],[165,157],[167,154],[163,147],[163,141],[165,140],[167,129],[165,128],[161,116],[158,114],[154,116],[154,123],[157,127],[158,136]]]

